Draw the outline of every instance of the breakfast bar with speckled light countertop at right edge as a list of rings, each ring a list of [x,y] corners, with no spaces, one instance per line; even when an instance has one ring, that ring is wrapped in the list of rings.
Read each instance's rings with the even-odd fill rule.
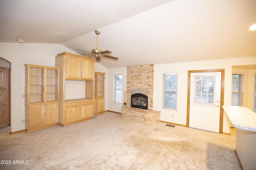
[[[222,106],[236,127],[236,156],[242,170],[256,169],[256,113],[242,106]]]

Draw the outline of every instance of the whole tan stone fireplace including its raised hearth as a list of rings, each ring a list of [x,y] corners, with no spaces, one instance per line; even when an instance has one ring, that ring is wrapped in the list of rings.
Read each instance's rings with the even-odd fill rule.
[[[127,67],[127,107],[122,117],[144,123],[160,122],[160,111],[153,110],[154,65]]]

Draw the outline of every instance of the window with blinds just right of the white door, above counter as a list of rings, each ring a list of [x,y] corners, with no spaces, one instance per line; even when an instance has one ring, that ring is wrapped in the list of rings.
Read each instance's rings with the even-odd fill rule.
[[[232,106],[244,106],[245,75],[232,74]]]

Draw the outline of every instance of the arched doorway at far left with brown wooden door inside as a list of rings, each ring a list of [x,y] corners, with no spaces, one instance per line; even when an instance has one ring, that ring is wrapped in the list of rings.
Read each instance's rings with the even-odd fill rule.
[[[0,127],[11,125],[11,62],[0,57]]]

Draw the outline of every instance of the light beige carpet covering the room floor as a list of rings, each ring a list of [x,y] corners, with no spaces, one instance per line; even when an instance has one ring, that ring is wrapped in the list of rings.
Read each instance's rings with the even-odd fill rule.
[[[0,164],[0,169],[240,170],[234,130],[222,135],[145,124],[111,112],[31,133],[10,135],[5,127],[0,129],[0,160],[24,164]]]

